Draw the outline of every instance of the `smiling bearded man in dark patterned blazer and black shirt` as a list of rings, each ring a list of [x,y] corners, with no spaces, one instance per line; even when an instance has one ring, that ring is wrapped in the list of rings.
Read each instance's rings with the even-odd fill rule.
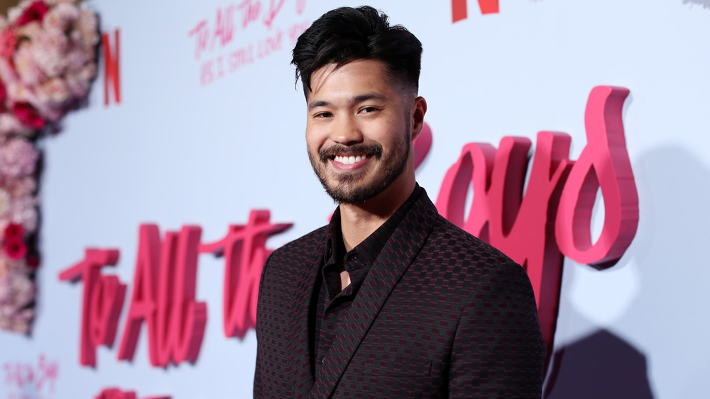
[[[264,265],[257,398],[540,397],[525,271],[415,181],[421,52],[371,7],[330,11],[297,40],[308,155],[339,207]]]

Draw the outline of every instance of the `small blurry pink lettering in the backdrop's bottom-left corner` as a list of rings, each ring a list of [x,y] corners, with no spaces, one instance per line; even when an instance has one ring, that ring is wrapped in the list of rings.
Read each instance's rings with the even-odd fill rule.
[[[9,398],[38,398],[51,395],[59,375],[59,363],[48,361],[45,354],[40,354],[36,365],[21,361],[6,361],[2,365],[5,372],[5,386]],[[13,392],[17,390],[17,392]]]

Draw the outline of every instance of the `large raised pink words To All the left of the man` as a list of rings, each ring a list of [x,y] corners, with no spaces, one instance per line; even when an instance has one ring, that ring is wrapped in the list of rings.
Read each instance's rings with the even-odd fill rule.
[[[144,324],[153,366],[197,360],[207,322],[207,304],[195,300],[200,252],[224,257],[224,332],[226,337],[244,337],[256,322],[259,278],[271,253],[266,240],[291,226],[271,224],[270,217],[268,210],[252,210],[246,225],[230,225],[222,240],[205,245],[200,245],[202,231],[197,226],[165,232],[161,241],[158,226],[141,225],[119,360],[133,359]],[[84,283],[80,335],[80,364],[84,366],[96,366],[96,348],[111,347],[114,342],[126,286],[100,270],[118,259],[117,249],[89,248],[84,259],[60,272],[61,281],[81,279]]]

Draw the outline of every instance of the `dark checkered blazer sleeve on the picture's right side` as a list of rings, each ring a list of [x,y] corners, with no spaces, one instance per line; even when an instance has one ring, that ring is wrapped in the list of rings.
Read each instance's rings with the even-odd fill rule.
[[[461,314],[449,369],[451,398],[540,398],[545,340],[525,270],[481,277]]]

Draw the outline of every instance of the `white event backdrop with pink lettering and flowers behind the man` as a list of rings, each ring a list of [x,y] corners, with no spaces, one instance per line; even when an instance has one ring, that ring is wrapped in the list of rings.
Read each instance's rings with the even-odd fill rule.
[[[0,398],[251,396],[261,266],[334,209],[290,50],[361,3],[192,3],[0,20]],[[544,396],[705,398],[710,1],[370,5],[424,47],[417,181],[530,277]]]

